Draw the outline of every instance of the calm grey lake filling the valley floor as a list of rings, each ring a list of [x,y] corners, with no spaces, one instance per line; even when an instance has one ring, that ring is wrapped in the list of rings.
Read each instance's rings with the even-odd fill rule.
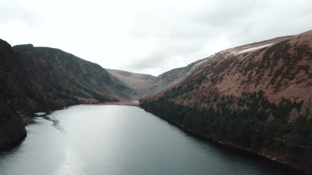
[[[76,105],[35,121],[21,145],[0,154],[0,174],[287,174],[139,107]]]

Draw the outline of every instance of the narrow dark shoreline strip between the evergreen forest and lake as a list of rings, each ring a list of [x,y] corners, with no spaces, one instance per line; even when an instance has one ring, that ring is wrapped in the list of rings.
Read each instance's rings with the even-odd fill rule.
[[[142,110],[148,112],[148,113],[151,113],[165,121],[167,121],[168,123],[174,125],[174,126],[177,126],[178,128],[180,128],[181,130],[183,130],[184,132],[186,132],[187,134],[190,134],[194,137],[197,137],[197,138],[201,138],[201,139],[204,139],[204,140],[207,140],[207,141],[210,141],[211,143],[213,144],[216,144],[224,149],[228,149],[228,150],[236,150],[236,151],[240,151],[242,154],[245,154],[245,155],[248,155],[250,157],[253,157],[253,158],[260,158],[264,161],[267,161],[271,164],[275,164],[281,168],[287,168],[287,170],[291,171],[291,172],[294,172],[294,174],[298,174],[298,175],[309,175],[311,174],[310,172],[305,172],[304,170],[302,169],[298,169],[294,166],[291,166],[290,164],[288,163],[284,163],[284,162],[281,162],[281,161],[278,161],[278,160],[275,160],[275,159],[272,159],[270,158],[269,155],[265,155],[265,154],[261,154],[261,152],[255,152],[255,151],[251,151],[249,149],[246,149],[246,148],[243,148],[241,146],[238,146],[236,144],[233,144],[231,142],[226,142],[226,141],[220,141],[220,140],[216,140],[216,139],[213,139],[213,138],[210,138],[208,136],[205,136],[203,134],[200,134],[200,133],[197,133],[197,132],[194,132],[193,130],[190,130],[186,127],[184,127],[183,125],[180,125],[179,123],[175,123],[175,122],[172,122],[170,121],[169,119],[167,119],[166,117],[163,117],[159,114],[156,114],[152,111],[149,111],[149,110],[146,110],[145,108],[141,107],[139,105],[140,108],[142,108]]]

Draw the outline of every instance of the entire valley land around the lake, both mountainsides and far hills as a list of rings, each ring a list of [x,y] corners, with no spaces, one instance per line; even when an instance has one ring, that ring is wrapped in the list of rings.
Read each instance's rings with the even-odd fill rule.
[[[159,76],[4,40],[0,58],[0,150],[26,137],[37,111],[140,105],[207,139],[312,172],[312,31],[227,49]]]

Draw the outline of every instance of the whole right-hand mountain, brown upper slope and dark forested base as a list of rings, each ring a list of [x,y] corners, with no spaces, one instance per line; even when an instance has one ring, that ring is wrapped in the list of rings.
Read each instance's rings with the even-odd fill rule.
[[[140,106],[193,134],[312,172],[312,31],[224,50],[172,77]]]

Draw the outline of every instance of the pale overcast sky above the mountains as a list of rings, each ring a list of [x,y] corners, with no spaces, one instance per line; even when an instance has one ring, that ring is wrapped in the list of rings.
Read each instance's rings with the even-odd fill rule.
[[[311,9],[310,0],[0,0],[0,38],[157,76],[225,49],[311,30]]]

